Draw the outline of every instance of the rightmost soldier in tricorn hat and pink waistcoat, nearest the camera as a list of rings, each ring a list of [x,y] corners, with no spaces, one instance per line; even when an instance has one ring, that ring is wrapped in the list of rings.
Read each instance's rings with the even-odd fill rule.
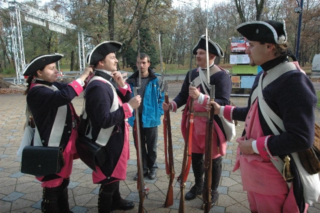
[[[320,184],[302,184],[304,169],[295,154],[313,143],[314,87],[298,63],[288,60],[295,57],[288,50],[284,21],[249,21],[236,30],[249,40],[245,52],[250,64],[263,71],[254,80],[246,107],[210,102],[215,114],[245,121],[243,135],[236,139],[233,171],[240,168],[251,212],[306,212],[306,203],[317,201]],[[282,159],[289,160],[289,168]]]

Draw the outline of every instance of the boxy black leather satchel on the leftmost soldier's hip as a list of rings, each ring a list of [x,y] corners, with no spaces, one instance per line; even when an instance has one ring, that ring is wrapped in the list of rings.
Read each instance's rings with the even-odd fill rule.
[[[22,150],[21,172],[35,176],[59,173],[64,166],[62,147],[27,145]]]

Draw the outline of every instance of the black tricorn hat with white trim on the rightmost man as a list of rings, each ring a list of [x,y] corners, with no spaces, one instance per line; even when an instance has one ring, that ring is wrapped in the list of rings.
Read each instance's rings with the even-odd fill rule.
[[[285,22],[275,20],[248,21],[235,27],[248,40],[283,44],[286,42]]]

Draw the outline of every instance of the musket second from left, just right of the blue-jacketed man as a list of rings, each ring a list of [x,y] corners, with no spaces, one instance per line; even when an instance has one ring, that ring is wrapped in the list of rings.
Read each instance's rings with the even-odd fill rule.
[[[160,50],[160,68],[161,68],[161,82],[163,83],[163,68],[162,68],[162,51],[161,40],[159,34],[159,50]],[[168,98],[168,85],[164,81],[164,102],[169,104]],[[173,205],[173,180],[174,180],[174,166],[173,166],[173,150],[172,150],[172,134],[171,134],[171,120],[169,110],[164,111],[163,116],[163,138],[164,138],[164,159],[165,159],[165,172],[168,175],[169,185],[166,192],[164,207]]]

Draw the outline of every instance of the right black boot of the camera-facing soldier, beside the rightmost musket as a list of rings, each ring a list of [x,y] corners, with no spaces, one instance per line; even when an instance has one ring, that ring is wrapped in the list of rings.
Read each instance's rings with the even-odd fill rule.
[[[212,159],[212,179],[211,179],[211,205],[213,206],[218,198],[219,198],[219,193],[218,193],[218,185],[220,181],[222,173],[222,157],[219,156],[215,159]]]

